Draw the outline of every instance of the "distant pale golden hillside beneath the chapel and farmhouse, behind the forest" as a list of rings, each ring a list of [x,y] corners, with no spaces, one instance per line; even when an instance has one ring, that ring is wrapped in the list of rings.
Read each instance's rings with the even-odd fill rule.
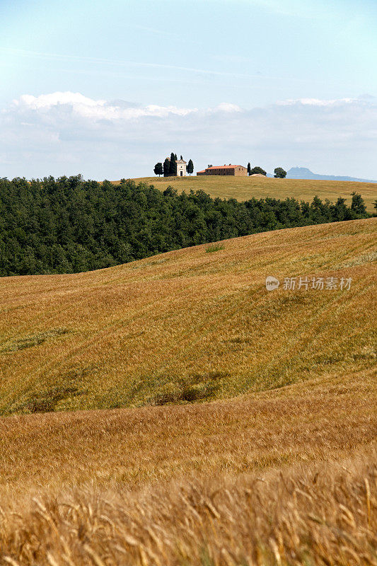
[[[251,197],[272,197],[286,199],[294,197],[298,200],[313,200],[318,195],[321,200],[329,199],[332,202],[337,197],[347,199],[351,202],[352,192],[358,192],[363,197],[368,212],[375,212],[373,202],[377,199],[377,186],[373,183],[356,183],[333,180],[307,180],[307,179],[274,179],[257,177],[145,177],[135,179],[138,182],[151,183],[156,188],[165,190],[172,185],[177,190],[199,190],[208,192],[211,197],[235,198],[237,200],[248,200]],[[119,181],[116,181],[119,183]]]

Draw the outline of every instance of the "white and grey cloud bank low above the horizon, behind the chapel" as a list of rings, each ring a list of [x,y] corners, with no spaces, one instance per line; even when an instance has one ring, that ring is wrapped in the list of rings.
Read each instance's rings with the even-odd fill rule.
[[[377,99],[282,100],[265,108],[214,108],[25,94],[0,111],[0,176],[153,175],[170,151],[207,163],[308,166],[376,178]]]

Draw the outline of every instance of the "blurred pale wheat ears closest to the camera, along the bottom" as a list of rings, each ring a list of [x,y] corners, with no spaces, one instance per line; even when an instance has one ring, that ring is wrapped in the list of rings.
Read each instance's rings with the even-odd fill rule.
[[[1,566],[359,566],[377,563],[377,459],[40,495],[0,509]]]

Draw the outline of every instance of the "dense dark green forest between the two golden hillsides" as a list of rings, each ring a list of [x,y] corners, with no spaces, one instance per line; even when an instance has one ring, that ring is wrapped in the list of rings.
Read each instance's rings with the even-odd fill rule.
[[[74,273],[252,233],[365,218],[348,207],[251,198],[213,199],[202,190],[164,192],[127,180],[113,185],[81,175],[0,179],[0,275]]]

